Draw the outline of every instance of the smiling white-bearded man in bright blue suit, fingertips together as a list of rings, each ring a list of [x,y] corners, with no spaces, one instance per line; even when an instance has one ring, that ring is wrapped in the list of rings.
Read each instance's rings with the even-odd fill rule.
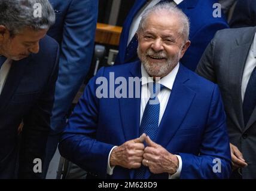
[[[65,158],[99,178],[229,177],[218,87],[179,63],[189,28],[170,4],[143,14],[141,61],[103,67],[89,82],[59,144]]]

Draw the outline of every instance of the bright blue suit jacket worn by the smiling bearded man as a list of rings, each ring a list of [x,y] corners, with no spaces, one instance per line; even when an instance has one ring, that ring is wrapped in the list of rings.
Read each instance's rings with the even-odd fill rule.
[[[99,70],[75,107],[59,150],[65,158],[100,178],[133,178],[134,170],[122,167],[115,167],[113,175],[106,175],[112,147],[139,137],[141,107],[140,98],[96,97],[100,87],[96,85],[97,78],[108,79],[104,82],[107,85],[109,72],[114,72],[115,79],[141,78],[141,63]],[[228,178],[230,149],[217,85],[181,65],[154,141],[181,156],[181,178]],[[221,160],[221,173],[212,170],[215,158]],[[147,170],[146,178],[168,178],[168,175],[151,174]]]

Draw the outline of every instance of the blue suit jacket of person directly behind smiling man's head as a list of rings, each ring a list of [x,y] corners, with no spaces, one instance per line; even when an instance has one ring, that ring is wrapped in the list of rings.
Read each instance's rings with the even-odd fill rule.
[[[228,27],[227,22],[223,17],[214,18],[212,13],[214,5],[217,0],[184,0],[177,7],[180,8],[190,19],[190,36],[191,45],[181,59],[181,62],[188,69],[195,70],[203,51],[214,38],[217,30],[225,29]],[[115,60],[115,64],[129,63],[138,60],[137,47],[134,48],[133,53],[127,57],[126,47],[129,38],[130,25],[133,18],[139,10],[147,3],[147,0],[138,0],[133,5],[132,10],[127,16],[123,24],[123,30],[120,36],[119,53]]]

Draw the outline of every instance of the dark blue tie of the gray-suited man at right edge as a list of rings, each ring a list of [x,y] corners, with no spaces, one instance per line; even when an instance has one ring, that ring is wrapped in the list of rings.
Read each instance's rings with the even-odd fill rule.
[[[245,97],[243,98],[243,121],[246,124],[249,121],[254,107],[256,106],[256,67],[252,71],[251,77],[248,81]]]

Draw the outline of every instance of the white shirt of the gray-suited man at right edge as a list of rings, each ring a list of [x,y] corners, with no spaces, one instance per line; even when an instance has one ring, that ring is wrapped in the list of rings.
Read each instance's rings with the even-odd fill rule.
[[[243,98],[245,97],[245,90],[249,82],[249,78],[251,77],[252,70],[254,70],[255,66],[256,66],[256,33],[254,35],[254,41],[252,42],[251,48],[249,50],[249,54],[247,56],[245,69],[243,70],[243,78],[242,78],[242,85],[241,85],[242,101],[243,101]]]

